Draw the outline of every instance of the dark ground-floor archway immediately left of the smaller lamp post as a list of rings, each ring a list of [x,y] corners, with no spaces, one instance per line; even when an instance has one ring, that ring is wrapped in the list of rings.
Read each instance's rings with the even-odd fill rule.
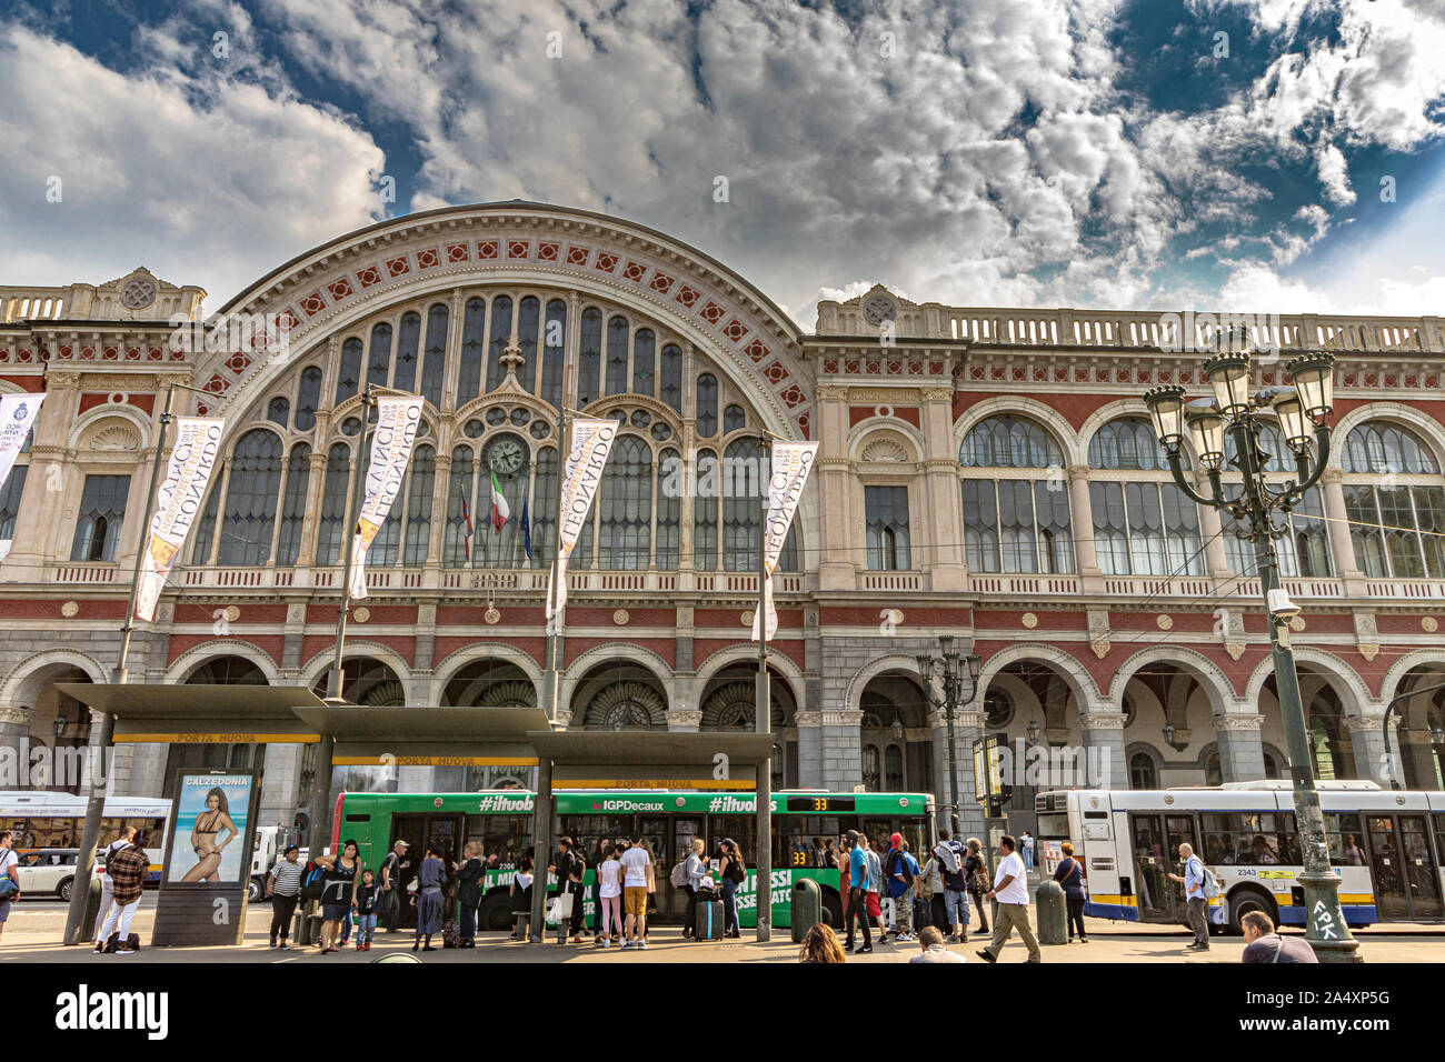
[[[858,695],[863,787],[870,793],[933,792],[933,734],[918,681],[900,670],[868,679]]]

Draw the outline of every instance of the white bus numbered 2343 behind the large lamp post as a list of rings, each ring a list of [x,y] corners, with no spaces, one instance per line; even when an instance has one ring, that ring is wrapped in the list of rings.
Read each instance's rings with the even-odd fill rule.
[[[1329,858],[1351,926],[1445,922],[1445,792],[1389,792],[1374,782],[1321,782]],[[1290,782],[1235,782],[1168,790],[1039,793],[1045,855],[1072,841],[1094,918],[1183,923],[1179,844],[1220,878],[1215,926],[1240,931],[1263,910],[1276,925],[1305,923],[1303,873]],[[1051,844],[1053,842],[1053,844]],[[1045,871],[1053,865],[1045,860]]]

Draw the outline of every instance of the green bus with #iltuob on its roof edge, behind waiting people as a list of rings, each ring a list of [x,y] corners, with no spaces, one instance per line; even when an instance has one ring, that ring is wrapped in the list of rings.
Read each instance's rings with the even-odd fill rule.
[[[757,795],[749,792],[558,789],[553,790],[556,818],[552,837],[571,837],[587,857],[585,913],[592,916],[591,864],[601,839],[640,834],[657,867],[656,909],[660,922],[681,920],[686,894],[668,883],[668,873],[701,837],[711,855],[722,838],[731,838],[749,867],[757,865]],[[478,915],[480,929],[510,925],[507,893],[517,860],[532,848],[533,795],[520,789],[480,793],[341,793],[331,819],[331,850],[345,839],[361,850],[367,867],[380,867],[397,841],[410,845],[406,883],[420,854],[431,847],[444,861],[460,861],[468,841],[480,841],[483,855],[497,857],[487,870],[486,892]],[[842,922],[838,870],[834,863],[838,838],[858,829],[874,845],[887,845],[890,834],[902,834],[909,850],[920,855],[931,847],[933,798],[929,793],[825,793],[789,790],[773,795],[773,925],[789,926],[793,883],[812,878],[824,897],[824,918]],[[538,863],[545,865],[543,860]],[[555,886],[555,881],[552,883]],[[738,889],[738,920],[757,925],[757,876],[750,871]],[[403,920],[415,915],[403,906]]]

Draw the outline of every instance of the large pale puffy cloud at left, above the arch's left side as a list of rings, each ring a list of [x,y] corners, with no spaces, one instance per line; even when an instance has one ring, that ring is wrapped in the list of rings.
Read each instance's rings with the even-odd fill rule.
[[[176,42],[150,35],[150,48]],[[120,74],[23,26],[0,30],[6,282],[101,283],[147,266],[208,309],[366,224],[383,156],[335,108],[169,62]],[[59,202],[46,191],[59,181]]]

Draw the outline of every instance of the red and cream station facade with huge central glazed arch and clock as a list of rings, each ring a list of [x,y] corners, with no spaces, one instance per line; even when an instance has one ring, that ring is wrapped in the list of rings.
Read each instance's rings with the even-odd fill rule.
[[[7,746],[91,738],[53,685],[114,668],[169,383],[208,393],[176,392],[178,413],[225,418],[224,462],[131,673],[319,688],[371,383],[422,394],[426,413],[351,617],[354,702],[538,704],[565,403],[623,426],[572,561],[568,727],[753,725],[749,493],[766,429],[821,444],[776,577],[775,783],[946,803],[945,714],[916,662],[941,634],[983,662],[955,715],[970,822],[984,734],[1094,757],[1113,787],[1287,776],[1250,548],[1176,491],[1144,415],[1152,386],[1207,393],[1205,319],[918,305],[880,286],[821,303],[809,334],[666,234],[520,202],[340,237],[257,280],[218,325],[201,327],[202,299],[144,269],[0,288],[0,390],[46,393],[0,491]],[[1445,682],[1445,322],[1251,328],[1266,348],[1256,386],[1286,383],[1296,353],[1337,357],[1329,468],[1279,542],[1303,610],[1315,767],[1438,789],[1445,699],[1403,705],[1394,760],[1381,724],[1396,695]],[[1272,449],[1273,468],[1292,468]],[[500,535],[494,481],[513,514]],[[178,766],[257,756],[129,746],[113,786],[165,795]],[[266,750],[263,821],[290,822],[309,772],[305,748]],[[499,769],[354,774],[338,785],[526,783]],[[1030,787],[1012,803],[1027,822]]]

